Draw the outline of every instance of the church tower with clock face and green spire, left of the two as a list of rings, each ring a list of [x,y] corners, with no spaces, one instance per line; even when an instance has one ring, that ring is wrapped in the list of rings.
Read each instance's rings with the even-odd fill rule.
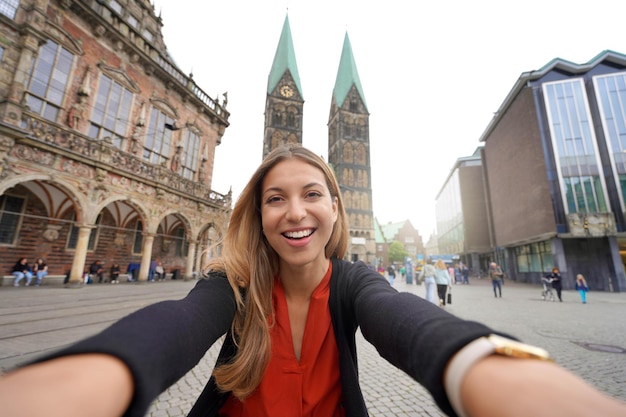
[[[289,16],[286,16],[267,81],[263,158],[284,143],[302,143],[303,108],[300,75],[291,39]]]

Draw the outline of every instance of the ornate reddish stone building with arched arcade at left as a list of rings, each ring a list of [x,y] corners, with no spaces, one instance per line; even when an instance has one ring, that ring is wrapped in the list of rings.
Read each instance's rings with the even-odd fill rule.
[[[149,0],[0,2],[0,247],[80,282],[100,260],[191,276],[231,195],[224,102],[174,64]]]

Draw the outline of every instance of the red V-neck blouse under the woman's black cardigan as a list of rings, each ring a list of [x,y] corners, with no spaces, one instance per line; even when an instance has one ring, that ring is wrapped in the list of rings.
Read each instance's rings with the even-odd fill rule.
[[[340,404],[339,351],[330,319],[329,263],[309,304],[300,361],[293,351],[285,290],[276,278],[272,294],[276,323],[270,329],[272,356],[263,380],[240,402],[230,396],[223,417],[345,417]]]

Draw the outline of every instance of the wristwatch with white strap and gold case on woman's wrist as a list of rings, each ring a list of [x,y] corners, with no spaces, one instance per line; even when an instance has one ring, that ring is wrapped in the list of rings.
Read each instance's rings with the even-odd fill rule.
[[[467,417],[463,404],[461,404],[461,382],[473,365],[489,355],[552,361],[550,354],[542,348],[495,334],[481,337],[469,343],[452,357],[446,368],[444,378],[448,400],[459,417]]]

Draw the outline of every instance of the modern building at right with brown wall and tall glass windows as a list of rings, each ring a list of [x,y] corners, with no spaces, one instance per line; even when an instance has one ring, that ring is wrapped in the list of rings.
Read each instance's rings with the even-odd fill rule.
[[[514,279],[626,288],[626,55],[523,73],[480,138],[494,258]]]

